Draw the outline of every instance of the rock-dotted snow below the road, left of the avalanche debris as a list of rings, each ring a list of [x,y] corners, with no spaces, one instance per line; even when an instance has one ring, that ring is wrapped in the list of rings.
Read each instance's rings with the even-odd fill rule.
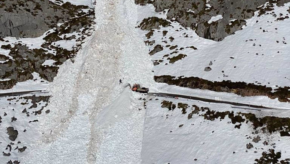
[[[46,96],[48,94],[42,93],[43,96]],[[32,96],[31,94],[26,94],[25,96]],[[27,149],[19,153],[16,149],[16,151],[11,152],[11,156],[3,156],[1,154],[1,163],[6,163],[10,159],[18,160],[22,159],[26,155],[26,151],[29,149],[32,149],[33,145],[31,145],[31,142],[37,140],[37,136],[39,135],[38,131],[35,131],[37,128],[36,122],[31,122],[31,120],[39,119],[38,115],[30,115],[29,117],[26,116],[25,113],[22,113],[22,110],[24,108],[28,109],[32,104],[25,104],[27,103],[25,99],[19,99],[22,96],[14,96],[16,98],[15,100],[8,101],[8,98],[13,97],[1,97],[0,98],[0,107],[1,107],[1,126],[0,126],[0,146],[2,148],[2,151],[8,153],[8,150],[5,150],[7,144],[11,145],[11,142],[15,143],[12,145],[13,149],[18,146],[19,148],[22,148],[23,146],[27,146]],[[19,100],[18,100],[19,99]],[[19,104],[18,104],[19,103]],[[24,105],[20,105],[20,103],[24,103]],[[44,104],[43,104],[44,105]],[[22,108],[23,107],[23,108]],[[22,109],[21,109],[22,108]],[[34,110],[40,110],[41,105],[37,104],[37,108],[34,108]],[[15,109],[15,110],[14,110]],[[6,112],[6,116],[3,115],[3,113]],[[16,121],[11,122],[11,118],[15,117],[17,118]],[[15,126],[17,125],[17,126]],[[15,141],[11,141],[8,139],[8,134],[6,133],[7,127],[14,127],[18,131],[18,136]],[[27,131],[24,132],[24,129]],[[18,141],[21,141],[21,143],[18,143]],[[12,160],[13,161],[13,160]],[[21,161],[22,162],[22,161]]]

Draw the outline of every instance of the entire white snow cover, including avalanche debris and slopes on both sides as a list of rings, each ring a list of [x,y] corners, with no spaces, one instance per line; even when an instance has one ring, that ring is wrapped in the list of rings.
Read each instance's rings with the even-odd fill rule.
[[[289,86],[290,43],[287,29],[290,19],[274,21],[277,18],[270,14],[257,17],[256,13],[247,20],[243,30],[221,42],[201,38],[193,30],[185,30],[175,22],[171,24],[173,27],[156,30],[149,39],[155,40],[155,44],[146,46],[144,41],[148,40],[145,37],[148,31],[135,27],[144,18],[166,18],[166,13],[156,13],[153,5],[139,6],[134,0],[96,0],[95,5],[92,0],[66,1],[95,6],[95,31],[86,38],[82,50],[74,58],[75,62],[67,61],[60,66],[53,82],[31,80],[18,83],[11,90],[0,90],[1,93],[20,91],[29,86],[31,90],[46,89],[50,93],[44,95],[51,95],[50,103],[44,108],[50,113],[30,117],[41,117],[37,123],[28,124],[25,116],[8,113],[9,119],[16,116],[21,120],[18,123],[21,124],[19,140],[24,141],[21,146],[26,145],[27,149],[20,155],[12,153],[9,158],[1,156],[1,162],[6,163],[12,158],[21,161],[21,164],[244,164],[255,163],[255,159],[268,149],[282,153],[279,161],[290,157],[290,138],[281,137],[278,131],[264,133],[260,127],[253,129],[251,122],[242,122],[240,128],[236,128],[239,123],[232,124],[228,116],[224,119],[204,119],[201,111],[189,118],[194,110],[192,105],[209,107],[218,112],[234,111],[235,115],[237,112],[251,112],[256,117],[289,117],[289,103],[266,96],[241,97],[234,93],[170,86],[156,83],[153,79],[154,75],[196,76],[211,81],[258,81],[272,88],[277,88],[276,85]],[[275,7],[274,12],[285,16],[289,7],[290,3]],[[218,16],[212,21],[220,18]],[[258,23],[255,23],[257,20]],[[179,31],[175,31],[177,29]],[[168,31],[165,37],[163,30]],[[168,40],[170,36],[175,38],[173,42]],[[168,43],[162,42],[164,40]],[[62,44],[70,45],[68,42]],[[148,52],[157,44],[162,45],[164,50],[150,56]],[[187,57],[173,64],[165,58],[159,65],[153,66],[152,61],[175,51],[165,48],[168,44],[178,45],[176,51]],[[190,46],[197,50],[185,48]],[[181,47],[184,49],[180,50]],[[175,54],[168,57],[173,56]],[[212,70],[205,72],[204,67],[209,66],[210,61],[213,63],[210,66]],[[50,60],[45,65],[52,63]],[[122,80],[120,85],[119,79]],[[234,109],[227,104],[148,96],[132,92],[128,83],[139,83],[148,87],[150,92],[192,95],[279,110]],[[176,108],[161,107],[163,100],[172,102]],[[189,105],[186,113],[178,103]],[[14,108],[2,98],[0,105],[9,107],[9,110]],[[26,104],[24,107],[29,106]],[[3,121],[1,125],[0,130],[6,132],[6,127],[11,126],[10,120]],[[29,133],[24,134],[23,129]],[[257,136],[261,141],[256,143],[253,138]],[[7,138],[7,134],[0,137]],[[248,143],[252,143],[253,147],[247,148]],[[0,145],[6,146],[4,143]]]

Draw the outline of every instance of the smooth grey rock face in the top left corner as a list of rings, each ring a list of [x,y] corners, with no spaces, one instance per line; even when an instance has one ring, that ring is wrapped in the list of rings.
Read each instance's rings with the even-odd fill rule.
[[[0,0],[0,38],[39,37],[45,31],[64,23],[81,9],[66,2],[62,6],[49,0]]]

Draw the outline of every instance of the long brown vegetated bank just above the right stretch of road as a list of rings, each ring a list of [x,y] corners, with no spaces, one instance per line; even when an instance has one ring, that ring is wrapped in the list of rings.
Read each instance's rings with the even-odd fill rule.
[[[241,96],[268,96],[271,99],[278,98],[281,102],[290,102],[290,87],[288,86],[273,90],[270,87],[255,85],[254,83],[231,82],[229,80],[212,82],[198,77],[175,78],[175,76],[170,75],[154,76],[154,80],[158,83],[167,83],[187,88],[235,93]]]

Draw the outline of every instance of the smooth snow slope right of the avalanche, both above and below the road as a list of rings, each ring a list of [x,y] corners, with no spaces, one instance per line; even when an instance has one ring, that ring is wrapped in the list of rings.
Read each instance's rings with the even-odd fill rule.
[[[168,20],[168,27],[160,25],[157,29],[153,28],[153,33],[150,33],[152,30],[139,29],[139,34],[149,52],[160,45],[158,51],[151,54],[155,76],[244,81],[276,89],[278,86],[289,86],[290,70],[286,66],[290,60],[289,34],[286,30],[290,25],[287,19],[289,6],[289,3],[275,6],[273,11],[269,11],[271,14],[262,16],[255,12],[255,16],[246,20],[242,30],[221,42],[199,37],[194,30],[185,29],[174,19]],[[152,4],[139,6],[138,25],[148,17],[166,20],[167,10],[160,13],[154,10]],[[277,19],[282,17],[286,19]],[[221,18],[217,16],[211,20]],[[178,54],[183,55],[177,58]],[[206,70],[207,67],[210,69]],[[289,131],[289,103],[266,96],[241,97],[234,93],[175,85],[156,84],[159,92],[282,109],[255,111],[232,108],[233,105],[149,96],[146,101],[142,163],[274,163],[276,160],[289,163],[289,136],[279,133],[284,128]],[[195,110],[197,108],[192,105],[198,109],[208,107],[210,112]],[[245,120],[236,123],[232,116],[221,114],[232,111],[237,116],[234,118],[241,116]],[[252,114],[261,121],[258,123],[249,119],[248,115]],[[262,124],[263,121],[266,123]],[[273,123],[276,129],[271,131]],[[255,127],[257,124],[261,127]]]

